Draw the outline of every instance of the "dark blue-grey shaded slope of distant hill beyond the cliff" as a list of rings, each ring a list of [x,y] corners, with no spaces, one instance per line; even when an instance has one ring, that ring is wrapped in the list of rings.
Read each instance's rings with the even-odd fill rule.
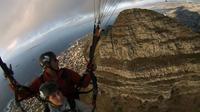
[[[175,11],[176,18],[184,25],[190,27],[194,32],[200,33],[200,14],[185,9],[183,6],[178,7]]]

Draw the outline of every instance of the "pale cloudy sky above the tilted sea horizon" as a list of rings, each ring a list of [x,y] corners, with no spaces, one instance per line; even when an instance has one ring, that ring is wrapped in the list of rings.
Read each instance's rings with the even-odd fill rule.
[[[38,35],[52,31],[60,24],[65,22],[70,24],[75,17],[90,15],[93,11],[93,1],[0,0],[0,55],[27,45],[25,43],[36,40],[41,37]],[[164,0],[121,0],[121,6],[160,1]]]

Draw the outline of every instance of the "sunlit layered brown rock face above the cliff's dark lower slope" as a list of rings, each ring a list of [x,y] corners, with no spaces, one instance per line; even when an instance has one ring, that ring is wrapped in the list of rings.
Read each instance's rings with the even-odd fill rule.
[[[112,73],[119,85],[126,85],[119,91],[128,90],[127,94],[142,100],[169,98],[173,86],[198,84],[192,77],[200,70],[199,34],[153,11],[120,13],[97,52],[102,81],[108,78],[104,72]],[[183,92],[197,90],[190,89]]]

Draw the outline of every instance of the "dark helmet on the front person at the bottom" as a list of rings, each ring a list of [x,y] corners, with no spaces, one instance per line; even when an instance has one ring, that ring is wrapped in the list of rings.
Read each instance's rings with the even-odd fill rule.
[[[44,100],[48,98],[49,95],[59,90],[58,85],[54,81],[45,82],[40,86],[39,92],[40,97]]]

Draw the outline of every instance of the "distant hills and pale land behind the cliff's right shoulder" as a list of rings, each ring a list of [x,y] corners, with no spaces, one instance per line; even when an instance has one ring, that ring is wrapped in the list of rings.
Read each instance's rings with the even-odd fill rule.
[[[200,33],[200,4],[198,3],[157,3],[145,8],[176,18],[180,23]]]

